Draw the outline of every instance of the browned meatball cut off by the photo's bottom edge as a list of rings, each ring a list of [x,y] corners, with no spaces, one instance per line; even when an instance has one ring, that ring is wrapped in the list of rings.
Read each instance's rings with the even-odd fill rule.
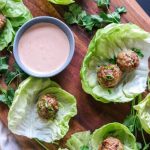
[[[99,150],[123,150],[123,144],[117,138],[108,137],[102,142]]]

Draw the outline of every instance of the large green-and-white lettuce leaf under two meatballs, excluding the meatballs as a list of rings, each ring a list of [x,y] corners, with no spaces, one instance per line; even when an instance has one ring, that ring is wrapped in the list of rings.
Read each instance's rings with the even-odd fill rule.
[[[134,24],[110,24],[98,30],[89,45],[80,72],[84,91],[104,103],[133,100],[147,86],[149,47],[150,34]],[[121,50],[131,48],[141,49],[144,54],[139,67],[124,74],[114,88],[107,89],[99,85],[97,67],[108,64]]]

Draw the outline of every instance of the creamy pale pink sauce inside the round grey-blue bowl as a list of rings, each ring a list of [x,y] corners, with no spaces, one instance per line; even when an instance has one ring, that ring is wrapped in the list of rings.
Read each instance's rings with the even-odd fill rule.
[[[52,23],[37,23],[27,29],[18,43],[21,63],[33,72],[48,74],[67,61],[70,44],[67,35]]]

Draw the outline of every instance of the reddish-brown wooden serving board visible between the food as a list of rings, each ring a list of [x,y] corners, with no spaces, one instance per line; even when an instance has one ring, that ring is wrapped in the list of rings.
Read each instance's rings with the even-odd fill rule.
[[[24,0],[25,5],[31,10],[33,16],[51,16],[51,11],[56,11],[55,17],[63,18],[64,6],[55,6],[56,10],[50,9],[47,0]],[[78,0],[78,3],[88,11],[95,14],[98,8],[94,0]],[[139,25],[146,31],[150,31],[150,18],[137,4],[135,0],[112,0],[110,10],[114,6],[126,6],[128,12],[122,16],[122,22],[132,22]],[[62,19],[63,20],[63,19]],[[70,122],[70,130],[66,137],[60,141],[64,145],[66,139],[74,132],[82,130],[95,130],[109,122],[123,122],[125,116],[129,113],[130,105],[126,104],[103,104],[95,101],[90,95],[87,95],[81,87],[80,67],[82,60],[87,52],[88,44],[93,35],[89,35],[80,27],[71,26],[76,40],[75,55],[71,64],[62,73],[53,78],[65,90],[73,94],[77,99],[78,115]],[[11,58],[11,62],[13,58]],[[7,126],[8,108],[0,104],[0,119]],[[23,150],[42,150],[43,148],[34,140],[26,137],[14,135],[17,142]],[[150,140],[150,137],[148,137]],[[57,145],[45,144],[49,150],[57,150]]]

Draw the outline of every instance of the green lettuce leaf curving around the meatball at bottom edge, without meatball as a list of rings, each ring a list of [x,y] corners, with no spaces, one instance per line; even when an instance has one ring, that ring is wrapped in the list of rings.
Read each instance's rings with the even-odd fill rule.
[[[136,139],[130,130],[120,123],[109,123],[94,131],[92,134],[92,150],[98,150],[100,144],[107,137],[118,138],[123,144],[124,150],[137,150]]]

